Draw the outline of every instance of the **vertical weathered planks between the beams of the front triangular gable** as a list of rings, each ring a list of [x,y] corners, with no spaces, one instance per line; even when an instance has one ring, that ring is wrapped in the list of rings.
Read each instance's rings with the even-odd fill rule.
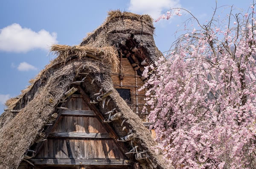
[[[67,108],[71,110],[90,110],[80,95],[74,95]],[[83,135],[107,135],[107,131],[95,116],[64,113],[58,119],[52,133],[83,133]],[[54,135],[53,135],[54,136]],[[38,155],[45,158],[85,158],[85,159],[125,159],[112,138],[65,138],[49,136]]]

